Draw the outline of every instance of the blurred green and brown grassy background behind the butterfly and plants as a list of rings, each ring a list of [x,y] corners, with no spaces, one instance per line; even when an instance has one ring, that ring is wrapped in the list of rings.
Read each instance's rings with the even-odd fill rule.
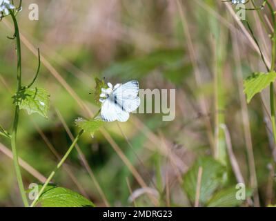
[[[28,19],[30,3],[38,4],[39,21]],[[45,59],[35,86],[50,93],[50,117],[21,111],[19,156],[48,177],[58,162],[54,153],[62,156],[70,146],[68,130],[77,134],[75,119],[89,118],[76,96],[96,113],[99,107],[90,95],[95,77],[106,77],[112,84],[137,79],[141,88],[176,88],[175,120],[135,114],[126,123],[108,124],[95,137],[84,135],[79,151],[72,152],[54,177],[55,184],[97,206],[151,206],[148,192],[159,206],[194,206],[201,166],[199,206],[275,204],[274,146],[263,107],[267,92],[248,106],[242,95],[242,79],[264,67],[226,4],[235,9],[213,0],[23,1],[17,17],[23,82],[34,77],[35,48],[40,48]],[[246,13],[262,37],[257,12]],[[16,90],[15,45],[7,38],[13,34],[11,24],[10,17],[0,22],[0,122],[7,129],[12,126],[11,97]],[[269,41],[264,39],[262,46]],[[0,206],[22,206],[7,155],[10,144],[3,137],[0,142]],[[237,159],[248,200],[235,200],[237,174],[227,146]],[[148,188],[137,182],[124,157]],[[22,173],[26,189],[39,182],[34,171]]]

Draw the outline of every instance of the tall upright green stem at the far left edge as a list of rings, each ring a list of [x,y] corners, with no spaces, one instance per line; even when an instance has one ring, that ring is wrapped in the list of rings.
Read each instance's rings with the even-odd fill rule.
[[[19,28],[17,24],[17,19],[14,17],[12,10],[10,10],[10,15],[12,16],[12,21],[14,23],[14,37],[16,37],[17,41],[17,92],[21,90],[21,44],[20,44],[20,35],[19,35]],[[24,206],[28,206],[27,196],[23,186],[22,175],[20,171],[18,155],[17,155],[17,127],[19,122],[19,106],[15,107],[14,113],[14,122],[12,126],[12,137],[11,137],[11,146],[12,146],[12,155],[13,155],[13,162],[14,162],[14,169],[17,175],[17,182],[19,185],[19,190],[21,194],[21,198],[23,200]]]

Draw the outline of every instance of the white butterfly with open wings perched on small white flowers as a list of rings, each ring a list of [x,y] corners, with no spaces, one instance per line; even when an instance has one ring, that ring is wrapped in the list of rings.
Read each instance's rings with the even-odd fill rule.
[[[101,88],[99,101],[101,105],[101,119],[104,122],[126,122],[129,113],[135,111],[140,105],[138,97],[138,81],[128,81],[126,84],[116,84],[114,87],[108,83],[108,88]]]

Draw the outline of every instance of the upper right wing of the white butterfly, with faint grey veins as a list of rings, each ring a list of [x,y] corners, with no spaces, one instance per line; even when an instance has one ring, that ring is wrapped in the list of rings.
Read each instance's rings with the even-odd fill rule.
[[[128,113],[135,111],[141,102],[138,93],[139,82],[128,81],[113,92],[115,104],[121,106],[121,108]]]

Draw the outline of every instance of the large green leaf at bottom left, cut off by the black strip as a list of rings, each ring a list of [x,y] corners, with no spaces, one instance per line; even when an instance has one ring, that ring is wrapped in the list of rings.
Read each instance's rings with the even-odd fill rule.
[[[42,185],[39,185],[41,189]],[[48,185],[41,194],[37,204],[42,207],[94,207],[90,200],[79,193],[63,187]]]

